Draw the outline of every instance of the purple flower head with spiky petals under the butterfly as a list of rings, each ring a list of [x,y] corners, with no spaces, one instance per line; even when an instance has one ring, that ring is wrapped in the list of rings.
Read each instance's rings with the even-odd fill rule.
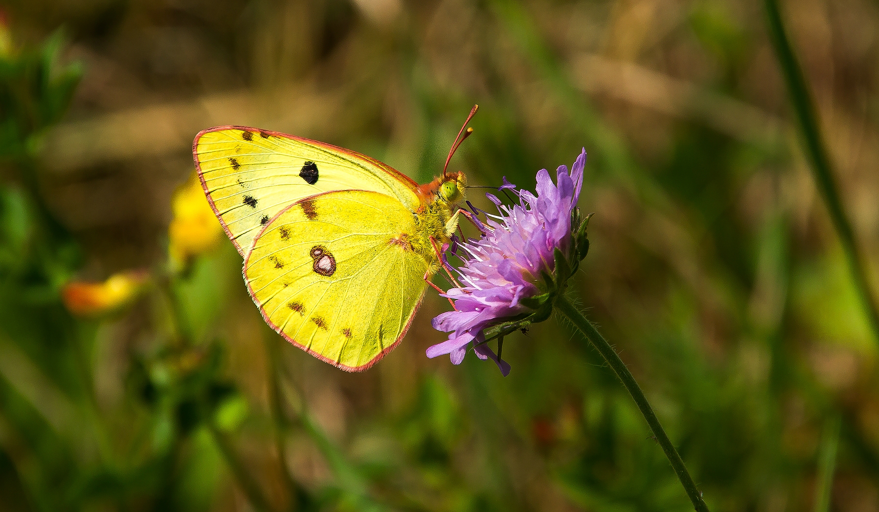
[[[454,301],[455,311],[439,314],[432,324],[450,334],[448,340],[428,348],[427,357],[448,354],[454,364],[460,364],[472,345],[477,357],[492,359],[505,376],[510,373],[510,365],[485,343],[484,331],[534,312],[522,301],[547,291],[542,276],[555,272],[556,249],[565,258],[575,256],[571,218],[583,186],[585,163],[583,150],[570,174],[567,166],[559,166],[557,184],[542,169],[537,173],[536,196],[504,179],[500,189],[518,194],[519,204],[507,206],[486,194],[500,215],[486,214],[480,239],[453,239],[452,252],[463,262],[457,269],[463,286],[443,295]]]

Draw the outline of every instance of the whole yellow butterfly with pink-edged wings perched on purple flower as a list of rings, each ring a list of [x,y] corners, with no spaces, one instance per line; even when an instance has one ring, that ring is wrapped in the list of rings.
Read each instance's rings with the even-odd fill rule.
[[[449,158],[472,129],[461,128]],[[368,369],[403,339],[467,214],[456,208],[461,172],[444,168],[418,186],[378,160],[294,135],[208,128],[193,157],[265,321],[347,371]]]

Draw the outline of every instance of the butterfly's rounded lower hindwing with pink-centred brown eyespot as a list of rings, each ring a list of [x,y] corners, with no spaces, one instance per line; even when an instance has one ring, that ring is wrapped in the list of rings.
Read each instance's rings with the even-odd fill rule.
[[[403,338],[425,292],[428,264],[407,242],[415,230],[389,195],[319,194],[265,226],[244,279],[287,340],[339,368],[367,369]]]

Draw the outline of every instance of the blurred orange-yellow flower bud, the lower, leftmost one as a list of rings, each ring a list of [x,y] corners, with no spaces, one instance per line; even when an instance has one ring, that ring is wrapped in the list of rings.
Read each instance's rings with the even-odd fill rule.
[[[62,300],[68,311],[92,317],[119,309],[143,289],[148,274],[128,271],[113,274],[105,282],[72,281],[62,289]]]

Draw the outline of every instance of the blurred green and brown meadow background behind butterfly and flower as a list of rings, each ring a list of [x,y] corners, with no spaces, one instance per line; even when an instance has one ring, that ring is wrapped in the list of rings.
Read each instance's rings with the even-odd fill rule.
[[[872,267],[879,6],[781,7]],[[879,344],[759,3],[2,10],[0,509],[691,510],[563,321],[507,339],[509,377],[472,356],[454,367],[425,358],[448,308],[429,292],[400,347],[345,373],[264,325],[185,185],[193,136],[229,124],[425,182],[474,103],[452,164],[471,183],[533,188],[585,146],[580,207],[596,215],[571,295],[708,506],[879,509]]]

